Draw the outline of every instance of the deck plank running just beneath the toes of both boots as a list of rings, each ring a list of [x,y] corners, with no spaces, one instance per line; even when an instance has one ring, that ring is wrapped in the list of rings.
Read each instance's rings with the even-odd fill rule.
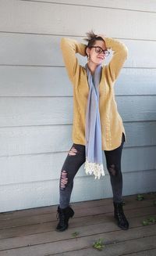
[[[120,229],[115,225],[114,220],[112,219],[112,222],[104,222],[104,223],[98,223],[94,225],[83,225],[80,227],[77,227],[76,229],[69,229],[66,231],[66,233],[58,233],[55,231],[47,232],[47,233],[37,233],[29,236],[20,236],[20,237],[14,237],[2,240],[2,243],[0,244],[0,251],[2,250],[8,250],[12,248],[20,248],[20,247],[27,247],[29,244],[30,246],[39,245],[41,243],[53,243],[58,242],[60,243],[60,240],[71,240],[73,239],[72,234],[75,232],[78,232],[79,235],[76,236],[76,239],[80,239],[82,237],[86,236],[93,236],[99,235],[103,233],[108,233],[105,240],[112,240],[112,236],[117,234],[118,239],[115,238],[115,242],[119,241],[122,237],[122,239],[129,240],[133,238],[134,236],[150,236],[151,234],[156,235],[156,225],[153,225],[151,230],[151,225],[142,226],[143,218],[134,218],[130,221],[130,229],[128,233],[122,233],[123,237],[120,234]],[[112,235],[110,235],[112,234]],[[128,236],[126,236],[128,235]],[[64,242],[63,242],[64,243]],[[67,242],[68,243],[68,242]],[[108,242],[107,242],[108,243]]]

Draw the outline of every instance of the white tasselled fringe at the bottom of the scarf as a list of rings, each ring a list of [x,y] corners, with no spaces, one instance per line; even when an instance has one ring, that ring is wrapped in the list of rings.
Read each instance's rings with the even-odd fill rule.
[[[84,164],[84,169],[86,171],[86,174],[94,174],[95,178],[99,179],[101,175],[105,176],[103,164],[90,163],[88,162],[88,160],[86,160]]]

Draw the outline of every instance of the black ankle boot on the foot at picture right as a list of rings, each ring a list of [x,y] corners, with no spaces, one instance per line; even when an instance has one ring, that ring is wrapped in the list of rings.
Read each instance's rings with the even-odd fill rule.
[[[114,217],[118,222],[118,226],[120,229],[126,230],[129,229],[129,222],[127,221],[122,208],[122,202],[121,203],[115,203],[114,204]]]

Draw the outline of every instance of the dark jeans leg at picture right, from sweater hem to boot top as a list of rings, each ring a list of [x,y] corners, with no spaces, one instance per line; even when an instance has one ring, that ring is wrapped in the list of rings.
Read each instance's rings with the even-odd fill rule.
[[[125,135],[122,134],[121,145],[115,150],[105,151],[106,164],[112,184],[113,201],[115,203],[122,202],[121,158],[124,141]]]

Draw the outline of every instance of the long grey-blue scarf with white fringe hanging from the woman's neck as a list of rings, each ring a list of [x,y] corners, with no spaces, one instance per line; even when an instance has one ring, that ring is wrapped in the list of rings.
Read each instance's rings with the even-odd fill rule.
[[[86,162],[85,171],[88,174],[94,174],[95,178],[105,175],[102,159],[101,145],[101,120],[99,113],[99,83],[101,80],[101,65],[97,66],[94,76],[86,64],[88,85],[90,88],[87,99],[86,112]]]

